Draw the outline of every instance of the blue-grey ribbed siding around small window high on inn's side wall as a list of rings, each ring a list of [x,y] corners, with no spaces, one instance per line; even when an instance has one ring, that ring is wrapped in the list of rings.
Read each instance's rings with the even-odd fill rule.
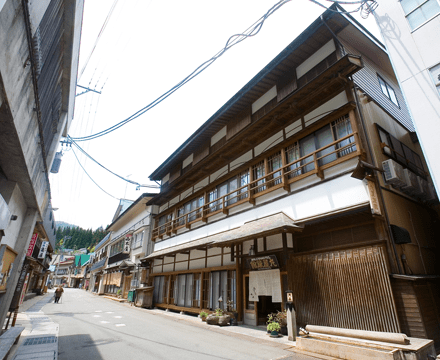
[[[350,46],[344,41],[342,43],[348,53],[361,55],[361,53],[354,47]],[[380,106],[382,106],[389,114],[394,116],[397,121],[399,121],[406,129],[409,131],[415,131],[398,83],[394,79],[390,78],[387,73],[381,70],[379,65],[375,64],[367,56],[363,55],[362,60],[364,62],[364,68],[353,74],[354,83],[365,91]],[[379,74],[388,84],[391,85],[396,93],[399,107],[397,107],[382,93],[379,80],[377,79],[377,74]]]

